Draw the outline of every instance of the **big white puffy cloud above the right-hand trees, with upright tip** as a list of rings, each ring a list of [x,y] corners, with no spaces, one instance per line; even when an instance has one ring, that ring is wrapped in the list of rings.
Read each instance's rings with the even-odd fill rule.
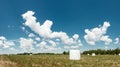
[[[106,45],[110,44],[112,39],[110,39],[108,35],[105,35],[108,27],[110,27],[110,23],[104,22],[103,26],[95,27],[90,30],[85,29],[86,35],[84,36],[84,39],[90,45],[95,45],[95,43],[98,41],[103,41]]]

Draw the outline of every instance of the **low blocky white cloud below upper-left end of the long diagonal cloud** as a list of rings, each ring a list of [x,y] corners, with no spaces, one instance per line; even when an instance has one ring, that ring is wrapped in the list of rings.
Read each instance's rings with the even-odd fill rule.
[[[33,40],[30,38],[20,38],[19,40],[20,48],[24,50],[33,50]]]

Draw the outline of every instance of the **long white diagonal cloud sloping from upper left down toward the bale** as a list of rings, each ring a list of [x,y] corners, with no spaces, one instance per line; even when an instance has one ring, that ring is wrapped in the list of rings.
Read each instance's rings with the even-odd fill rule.
[[[39,34],[39,36],[43,38],[60,38],[65,44],[73,42],[65,32],[52,32],[52,21],[46,20],[43,25],[40,25],[40,23],[36,21],[36,17],[33,15],[33,11],[27,11],[22,17],[26,20],[25,25],[35,33]]]

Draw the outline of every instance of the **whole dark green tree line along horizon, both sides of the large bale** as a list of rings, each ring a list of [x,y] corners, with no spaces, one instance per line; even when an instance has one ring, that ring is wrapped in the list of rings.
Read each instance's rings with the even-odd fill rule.
[[[92,54],[95,53],[96,55],[118,55],[120,53],[120,48],[116,49],[109,49],[109,50],[102,50],[102,49],[97,49],[97,50],[88,50],[84,51],[82,54],[87,55],[87,54]],[[63,55],[69,55],[69,51],[63,51],[61,53]],[[57,55],[56,53],[18,53],[17,55]],[[60,55],[60,54],[59,54]]]

